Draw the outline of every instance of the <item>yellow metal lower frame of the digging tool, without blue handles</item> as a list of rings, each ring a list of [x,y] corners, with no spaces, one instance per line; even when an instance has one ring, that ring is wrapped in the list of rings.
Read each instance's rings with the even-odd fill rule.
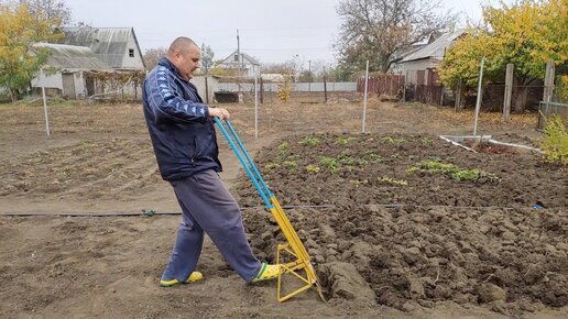
[[[299,293],[303,293],[309,288],[315,288],[316,292],[319,295],[319,298],[321,300],[326,300],[324,297],[324,294],[321,293],[321,287],[319,286],[319,282],[317,279],[316,272],[314,270],[314,266],[310,263],[310,257],[306,251],[306,248],[299,240],[298,234],[292,227],[292,223],[290,222],[288,218],[284,213],[284,210],[280,206],[278,201],[275,197],[270,198],[270,201],[273,205],[273,208],[271,208],[271,213],[276,220],[276,223],[278,224],[280,229],[282,230],[282,233],[286,238],[287,243],[286,244],[278,244],[276,249],[276,264],[281,265],[282,272],[278,275],[278,282],[277,282],[277,300],[278,302],[286,301],[287,299],[298,295]],[[295,261],[288,262],[288,263],[282,263],[281,264],[281,253],[285,253]],[[301,274],[299,272],[304,272],[304,274]],[[304,286],[301,288],[293,290],[292,293],[283,295],[282,293],[282,275],[284,274],[292,274],[297,279],[299,279]]]

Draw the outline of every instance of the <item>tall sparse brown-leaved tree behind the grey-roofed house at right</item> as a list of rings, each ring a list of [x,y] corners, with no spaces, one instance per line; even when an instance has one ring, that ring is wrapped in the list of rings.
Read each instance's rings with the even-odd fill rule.
[[[439,0],[340,1],[337,13],[343,22],[335,44],[339,63],[362,69],[369,59],[371,70],[386,72],[396,51],[454,25],[457,15],[438,9]]]

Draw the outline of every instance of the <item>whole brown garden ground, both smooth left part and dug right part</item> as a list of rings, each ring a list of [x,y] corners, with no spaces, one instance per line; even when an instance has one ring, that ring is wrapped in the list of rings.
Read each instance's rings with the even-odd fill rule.
[[[360,102],[266,103],[254,138],[254,109],[227,107],[327,302],[309,290],[278,305],[276,283],[247,285],[208,239],[205,280],[159,287],[179,208],[160,178],[141,107],[51,106],[45,138],[43,110],[20,105],[0,107],[0,207],[17,215],[0,217],[0,317],[568,316],[566,168],[439,140],[470,134],[467,111],[371,99],[368,133],[356,134]],[[482,113],[480,132],[537,147],[535,118],[503,123]],[[252,246],[274,261],[282,233],[218,140],[221,177],[242,205]]]

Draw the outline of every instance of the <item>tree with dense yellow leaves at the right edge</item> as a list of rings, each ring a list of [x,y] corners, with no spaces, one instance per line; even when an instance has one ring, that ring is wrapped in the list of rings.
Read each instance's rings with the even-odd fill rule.
[[[522,0],[509,7],[487,7],[487,29],[473,28],[446,52],[438,70],[446,86],[460,79],[470,88],[477,86],[479,63],[485,57],[483,79],[502,81],[506,64],[514,65],[518,86],[513,110],[523,111],[527,86],[544,79],[546,62],[565,68],[568,63],[568,1]]]

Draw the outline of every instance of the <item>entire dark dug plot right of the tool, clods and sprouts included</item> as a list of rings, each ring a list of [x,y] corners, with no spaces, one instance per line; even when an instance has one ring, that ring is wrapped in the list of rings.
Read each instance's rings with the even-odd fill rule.
[[[452,300],[510,316],[568,304],[568,174],[537,154],[473,153],[428,135],[313,134],[258,157],[331,298],[370,288],[401,310]],[[412,170],[420,163],[446,166]],[[238,189],[260,205],[250,183]],[[283,238],[262,210],[245,216],[256,253],[274,260]],[[337,284],[346,264],[362,286]]]

